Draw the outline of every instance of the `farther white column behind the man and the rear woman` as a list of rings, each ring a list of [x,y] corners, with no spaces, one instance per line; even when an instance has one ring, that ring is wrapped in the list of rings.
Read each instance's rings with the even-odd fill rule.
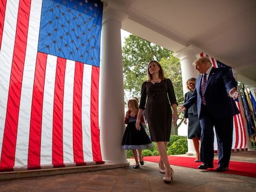
[[[180,59],[181,62],[181,74],[182,74],[182,85],[183,85],[183,93],[187,93],[187,83],[186,81],[191,77],[198,77],[198,72],[195,70],[194,66],[192,65],[195,59],[197,59],[197,54],[199,54],[200,49],[196,48],[195,46],[187,46],[184,49],[181,49],[174,54],[175,57]],[[195,148],[193,141],[188,139],[187,140],[187,155],[194,155],[195,154]]]

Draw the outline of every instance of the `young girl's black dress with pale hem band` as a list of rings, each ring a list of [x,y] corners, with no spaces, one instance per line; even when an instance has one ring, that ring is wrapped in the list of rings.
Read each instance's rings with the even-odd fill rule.
[[[142,117],[143,118],[143,117]],[[124,136],[122,138],[122,149],[148,149],[153,148],[153,144],[148,137],[142,123],[140,123],[140,130],[137,130],[135,123],[136,117],[131,117],[126,119],[127,124],[126,130],[124,131]],[[141,121],[143,122],[143,121]]]

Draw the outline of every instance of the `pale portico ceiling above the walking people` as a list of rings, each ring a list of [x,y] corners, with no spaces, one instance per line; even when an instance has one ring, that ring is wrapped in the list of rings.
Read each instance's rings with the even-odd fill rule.
[[[122,29],[177,52],[193,45],[229,65],[256,89],[255,0],[108,0]]]

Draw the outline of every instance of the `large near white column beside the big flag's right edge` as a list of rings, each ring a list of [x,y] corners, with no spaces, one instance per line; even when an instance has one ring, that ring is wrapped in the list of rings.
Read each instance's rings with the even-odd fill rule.
[[[103,12],[100,67],[100,143],[103,161],[128,163],[121,149],[124,124],[121,22],[118,10]]]

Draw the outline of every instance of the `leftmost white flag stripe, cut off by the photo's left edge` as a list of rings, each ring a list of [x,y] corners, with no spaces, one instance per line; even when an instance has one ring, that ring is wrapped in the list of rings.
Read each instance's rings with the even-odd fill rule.
[[[2,8],[1,8],[2,9]],[[6,123],[7,99],[11,77],[12,56],[14,52],[15,28],[19,1],[7,1],[6,15],[4,18],[4,29],[2,31],[2,44],[0,52],[0,157],[2,153],[2,140]]]

